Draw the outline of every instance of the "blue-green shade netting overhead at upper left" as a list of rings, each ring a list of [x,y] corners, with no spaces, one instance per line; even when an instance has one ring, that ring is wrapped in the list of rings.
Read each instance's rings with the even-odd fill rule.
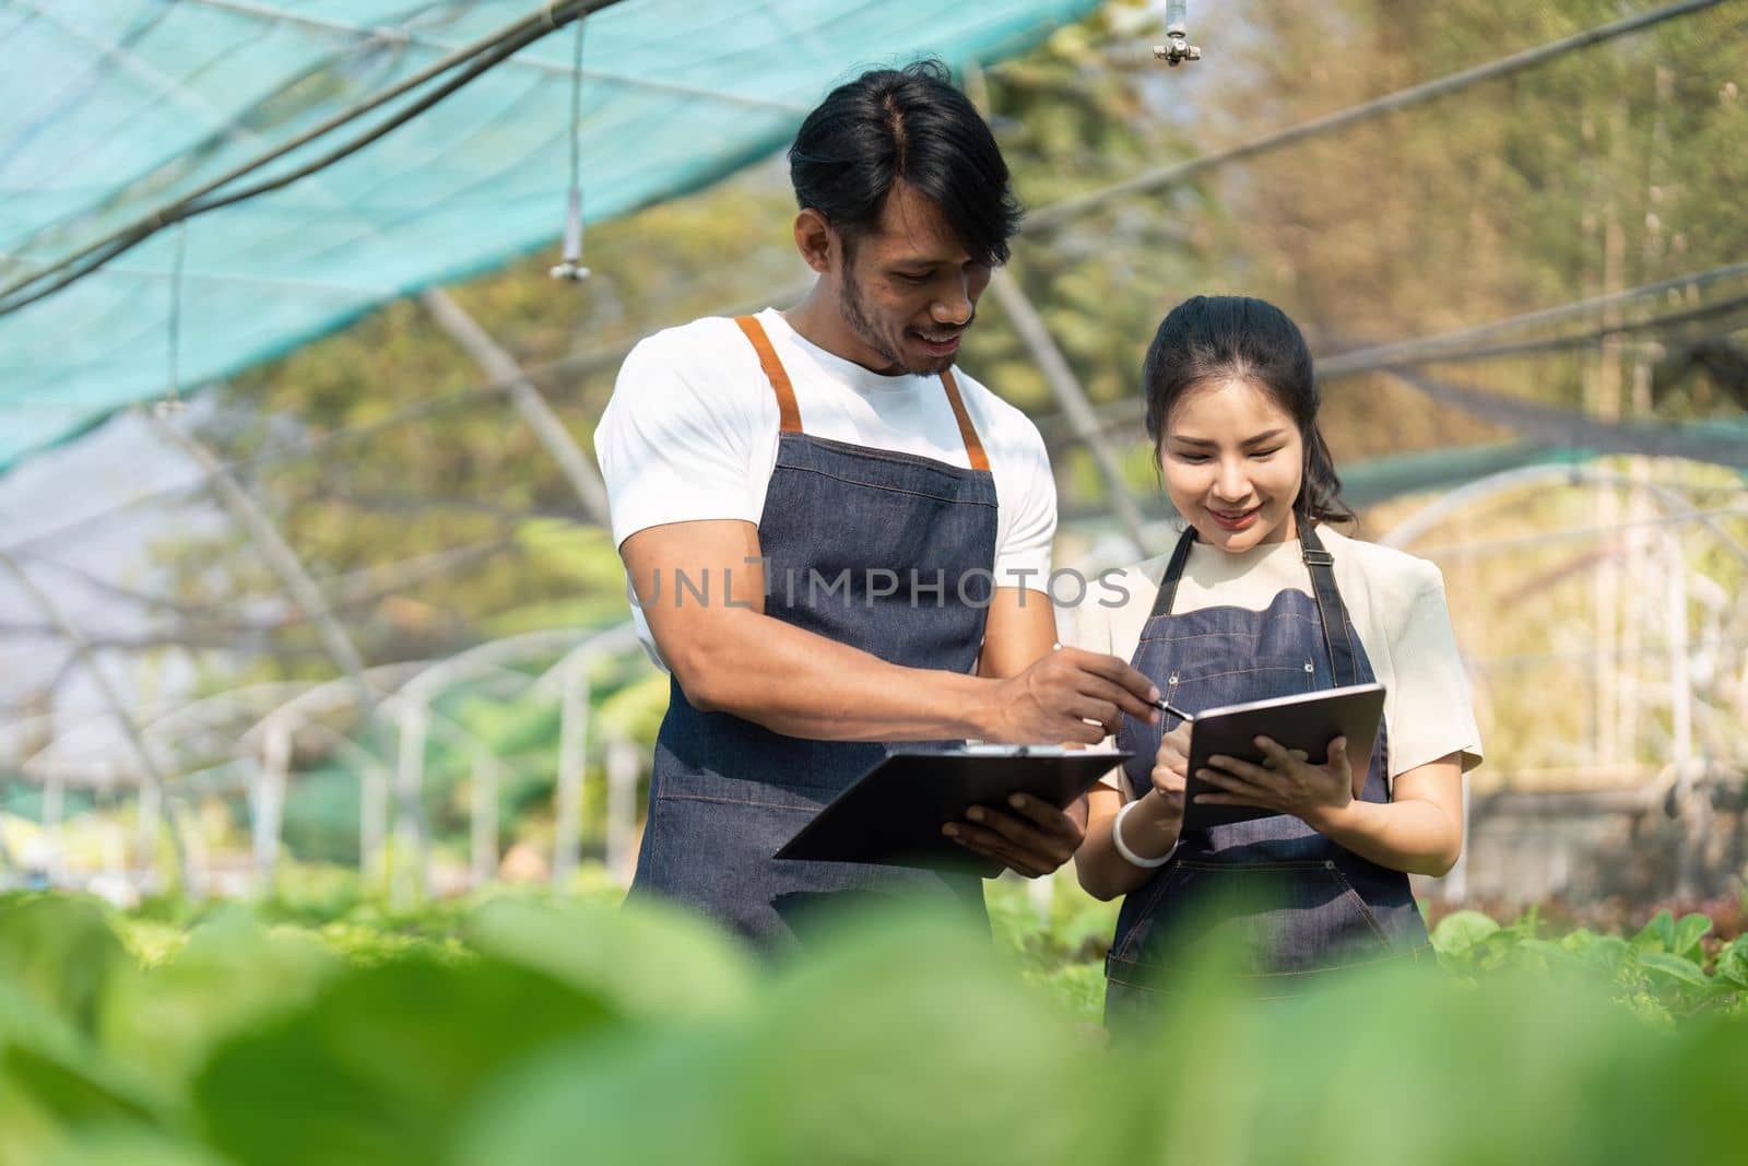
[[[542,7],[0,0],[0,285]],[[624,0],[587,19],[587,217],[773,152],[862,66],[925,52],[954,68],[991,61],[1094,7]],[[572,28],[549,35],[362,154],[189,222],[178,379],[227,376],[383,301],[556,239],[573,44]],[[323,138],[266,173],[329,147]],[[175,231],[163,233],[0,316],[0,472],[164,392],[175,248]]]

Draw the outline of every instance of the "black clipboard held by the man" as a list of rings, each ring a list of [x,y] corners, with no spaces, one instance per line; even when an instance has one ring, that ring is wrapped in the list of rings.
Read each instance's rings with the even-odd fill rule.
[[[960,867],[995,878],[1002,864],[940,834],[972,806],[1007,808],[1030,794],[1058,809],[1098,785],[1129,753],[1059,746],[967,746],[893,752],[832,799],[776,858]]]

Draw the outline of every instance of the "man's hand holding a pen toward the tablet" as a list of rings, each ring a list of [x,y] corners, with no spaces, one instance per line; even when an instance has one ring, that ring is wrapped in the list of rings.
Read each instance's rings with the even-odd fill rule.
[[[996,685],[984,739],[1098,745],[1117,731],[1124,713],[1155,724],[1155,699],[1159,687],[1115,656],[1056,649]]]

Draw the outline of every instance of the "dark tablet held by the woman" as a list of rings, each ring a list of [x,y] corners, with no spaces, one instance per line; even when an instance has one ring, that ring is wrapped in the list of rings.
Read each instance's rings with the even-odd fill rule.
[[[1365,788],[1365,771],[1377,741],[1377,724],[1384,717],[1384,685],[1355,684],[1342,689],[1299,692],[1271,701],[1222,704],[1196,715],[1190,722],[1189,776],[1183,783],[1183,832],[1206,830],[1215,825],[1253,822],[1274,816],[1273,809],[1255,806],[1197,806],[1197,794],[1224,794],[1196,776],[1208,767],[1215,753],[1238,757],[1260,766],[1262,750],[1253,738],[1266,736],[1287,748],[1304,750],[1313,766],[1328,760],[1328,743],[1348,738],[1348,760],[1353,762],[1353,795]]]

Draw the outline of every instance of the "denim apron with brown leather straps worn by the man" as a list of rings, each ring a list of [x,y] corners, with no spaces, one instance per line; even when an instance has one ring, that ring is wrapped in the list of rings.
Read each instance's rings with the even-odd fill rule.
[[[940,383],[972,468],[808,435],[764,329],[736,323],[780,414],[759,519],[766,615],[893,664],[972,671],[995,593],[996,491],[953,374]],[[699,711],[671,682],[631,893],[692,906],[767,951],[792,946],[818,907],[869,899],[933,897],[982,920],[970,872],[771,857],[884,753]]]

